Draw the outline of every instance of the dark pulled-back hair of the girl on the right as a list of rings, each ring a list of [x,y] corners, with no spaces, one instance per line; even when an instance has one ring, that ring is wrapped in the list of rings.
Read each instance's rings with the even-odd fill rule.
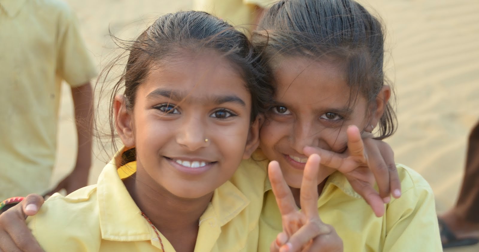
[[[253,42],[266,48],[269,61],[281,55],[339,64],[346,73],[351,97],[361,92],[373,104],[388,81],[383,72],[381,23],[354,0],[281,0],[264,13],[259,27]],[[377,138],[391,136],[396,123],[388,103]]]

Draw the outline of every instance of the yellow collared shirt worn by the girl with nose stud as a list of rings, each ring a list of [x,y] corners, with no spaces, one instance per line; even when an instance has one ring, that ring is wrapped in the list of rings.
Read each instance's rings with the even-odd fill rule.
[[[157,235],[121,180],[136,171],[136,162],[118,172],[115,162],[106,165],[96,185],[66,197],[53,195],[37,215],[27,218],[45,251],[161,251]],[[257,250],[265,177],[255,161],[244,160],[231,180],[215,190],[199,219],[195,252]],[[170,242],[160,237],[165,251],[174,252]]]

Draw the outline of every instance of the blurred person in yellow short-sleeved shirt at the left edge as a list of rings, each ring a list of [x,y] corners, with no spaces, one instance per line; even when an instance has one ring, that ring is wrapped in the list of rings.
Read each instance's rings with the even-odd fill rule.
[[[56,190],[85,186],[96,76],[77,18],[60,0],[0,0],[0,198],[46,194],[57,152],[61,81],[71,88],[76,165]],[[68,168],[67,168],[68,169]]]

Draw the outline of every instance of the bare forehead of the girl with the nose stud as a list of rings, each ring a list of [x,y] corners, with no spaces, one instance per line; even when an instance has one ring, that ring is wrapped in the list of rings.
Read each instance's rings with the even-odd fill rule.
[[[185,57],[169,63],[159,64],[149,71],[138,89],[143,97],[169,96],[179,101],[237,96],[251,100],[244,78],[223,58]]]

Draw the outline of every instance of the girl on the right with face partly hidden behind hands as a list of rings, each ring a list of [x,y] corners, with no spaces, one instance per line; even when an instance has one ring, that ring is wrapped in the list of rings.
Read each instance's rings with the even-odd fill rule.
[[[354,0],[282,0],[265,12],[260,27],[264,30],[253,41],[266,46],[275,87],[260,148],[277,162],[269,167],[272,184],[265,190],[273,190],[265,193],[259,251],[302,251],[304,245],[324,243],[321,234],[332,230],[346,252],[441,251],[433,192],[417,172],[398,164],[402,195],[386,197],[385,212],[375,214],[348,183],[361,180],[361,174],[313,169],[318,161],[312,153],[350,147],[348,136],[357,130],[350,125],[363,132],[376,129],[379,139],[394,132],[381,23]],[[304,194],[305,182],[314,182],[317,194]],[[315,204],[305,204],[312,198]],[[311,228],[319,217],[331,226]],[[341,251],[341,244],[336,248]]]

